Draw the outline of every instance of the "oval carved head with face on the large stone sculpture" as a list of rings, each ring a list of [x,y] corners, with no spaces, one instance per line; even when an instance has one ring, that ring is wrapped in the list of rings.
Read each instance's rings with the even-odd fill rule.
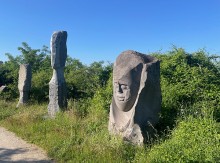
[[[132,58],[132,59],[131,59]],[[121,111],[129,111],[137,98],[144,60],[140,53],[121,53],[113,69],[113,97]]]

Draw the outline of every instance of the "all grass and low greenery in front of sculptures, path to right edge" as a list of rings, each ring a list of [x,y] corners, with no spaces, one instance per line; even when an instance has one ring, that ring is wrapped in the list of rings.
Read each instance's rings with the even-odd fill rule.
[[[73,107],[55,119],[45,118],[46,104],[15,109],[0,101],[1,126],[45,149],[58,162],[220,162],[220,126],[211,117],[188,117],[145,147],[111,136],[108,113]]]

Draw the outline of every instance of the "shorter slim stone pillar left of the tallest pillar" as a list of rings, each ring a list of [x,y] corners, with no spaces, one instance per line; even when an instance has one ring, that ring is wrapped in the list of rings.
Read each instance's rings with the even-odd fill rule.
[[[31,89],[31,66],[29,64],[21,64],[19,69],[18,89],[20,98],[17,107],[28,102],[29,92]]]

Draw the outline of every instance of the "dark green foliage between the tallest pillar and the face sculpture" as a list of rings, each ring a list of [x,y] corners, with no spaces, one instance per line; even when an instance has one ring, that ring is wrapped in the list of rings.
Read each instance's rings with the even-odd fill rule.
[[[90,66],[83,65],[77,59],[67,58],[65,78],[70,98],[93,97],[98,88],[107,84],[112,65],[104,66],[104,62],[93,62]]]

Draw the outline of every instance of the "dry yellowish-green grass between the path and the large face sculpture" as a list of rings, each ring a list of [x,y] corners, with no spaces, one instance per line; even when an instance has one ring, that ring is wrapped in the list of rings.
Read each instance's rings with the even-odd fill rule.
[[[25,106],[2,120],[1,125],[44,148],[60,162],[127,162],[134,157],[136,147],[108,134],[104,112],[79,118],[71,110],[47,119],[46,108]],[[12,107],[5,105],[5,109]]]

